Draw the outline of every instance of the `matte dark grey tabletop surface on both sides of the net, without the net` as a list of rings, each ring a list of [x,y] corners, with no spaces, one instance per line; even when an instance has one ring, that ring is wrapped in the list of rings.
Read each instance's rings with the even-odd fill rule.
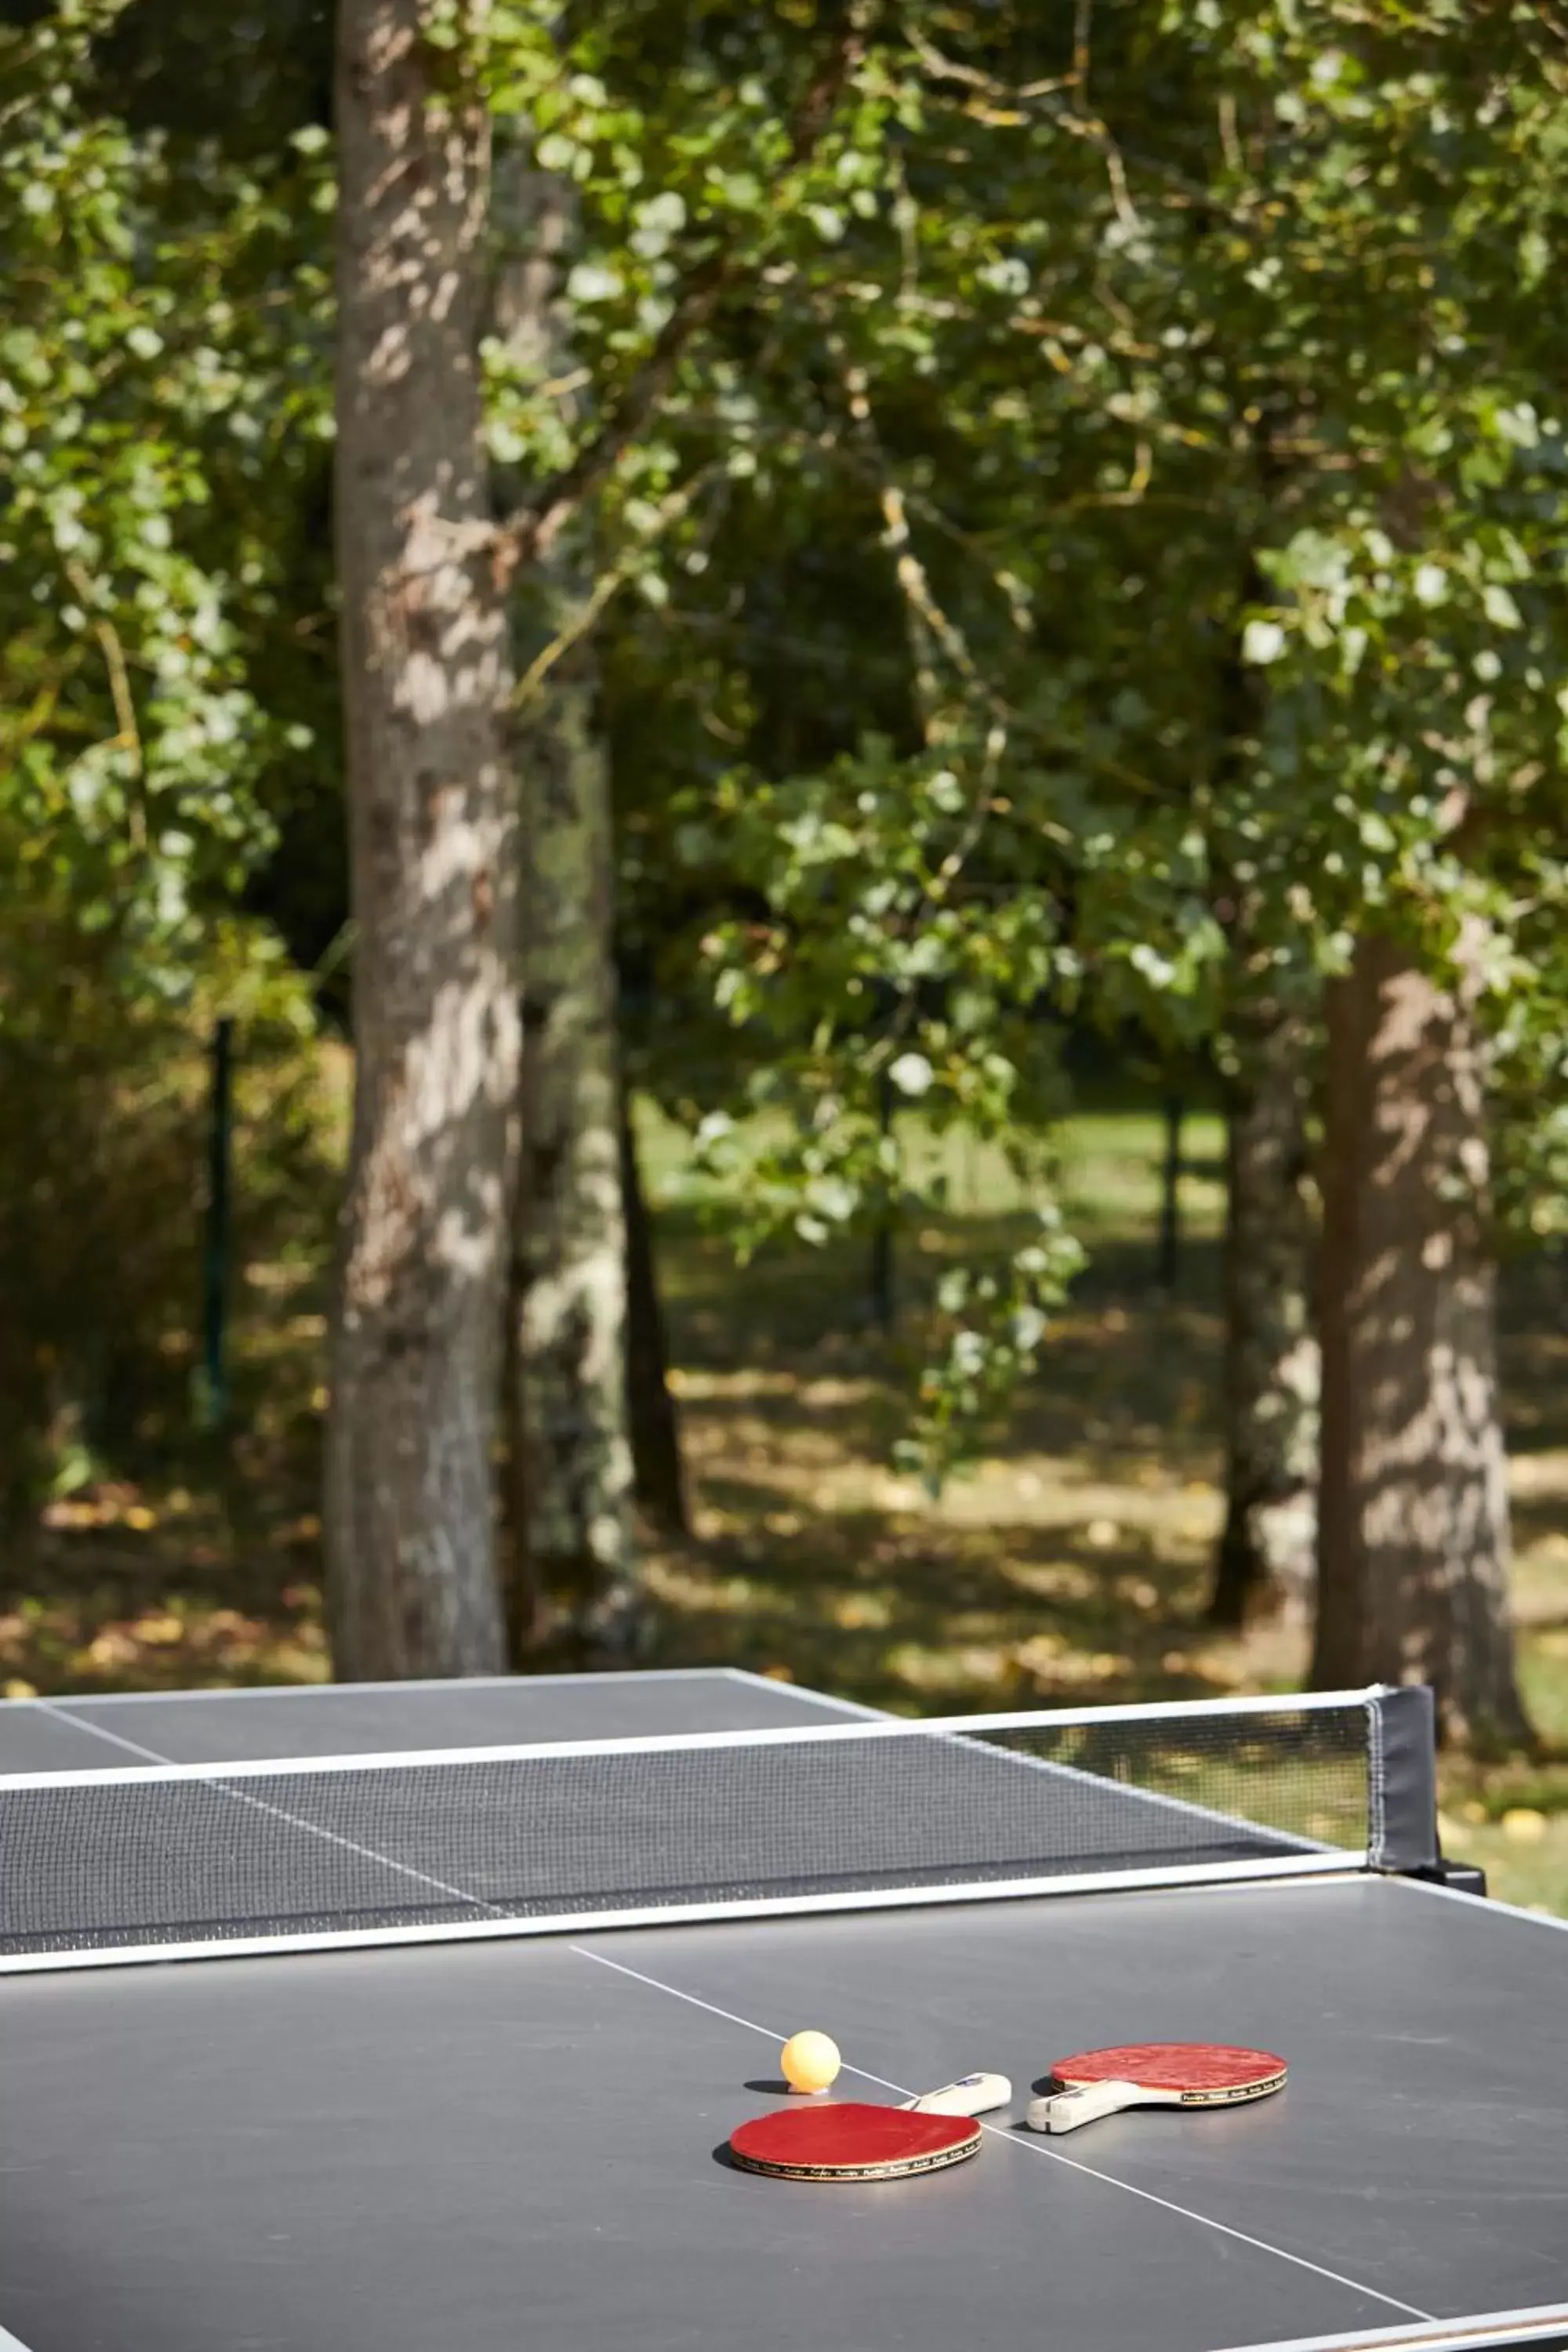
[[[729,1675],[89,1700],[0,1710],[0,1759],[823,1708]],[[1375,1877],[5,1978],[0,2352],[1436,2343],[1427,2317],[1568,2305],[1563,1994],[1552,1922]],[[924,2180],[736,2173],[722,2143],[799,2025],[863,2070],[844,2096],[994,2067],[1016,2112],[1095,2042],[1258,2042],[1293,2072],[1065,2140],[999,2122]]]

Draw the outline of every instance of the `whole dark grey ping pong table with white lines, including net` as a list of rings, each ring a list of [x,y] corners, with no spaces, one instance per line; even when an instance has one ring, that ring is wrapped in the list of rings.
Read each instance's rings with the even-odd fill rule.
[[[0,2352],[1568,2347],[1568,1938],[1432,1867],[1410,1700],[5,1703]],[[987,2067],[1023,2114],[1128,2039],[1291,2084],[745,2176],[804,2025],[842,2096]]]

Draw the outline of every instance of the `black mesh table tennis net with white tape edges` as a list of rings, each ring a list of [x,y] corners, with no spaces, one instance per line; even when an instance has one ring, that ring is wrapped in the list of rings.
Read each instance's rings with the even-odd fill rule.
[[[1347,1867],[1382,1752],[1356,1693],[14,1773],[0,1971]]]

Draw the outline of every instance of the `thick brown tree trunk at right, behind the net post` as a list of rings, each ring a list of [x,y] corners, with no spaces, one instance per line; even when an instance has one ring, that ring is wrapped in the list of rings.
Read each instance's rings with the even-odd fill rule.
[[[1474,985],[1387,936],[1328,990],[1319,1686],[1429,1682],[1516,1740],[1483,1058]]]

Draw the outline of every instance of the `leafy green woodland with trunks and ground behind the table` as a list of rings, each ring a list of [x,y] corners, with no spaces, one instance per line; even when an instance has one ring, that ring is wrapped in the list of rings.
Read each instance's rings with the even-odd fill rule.
[[[0,1682],[1427,1679],[1568,1907],[1568,16],[0,5]]]

